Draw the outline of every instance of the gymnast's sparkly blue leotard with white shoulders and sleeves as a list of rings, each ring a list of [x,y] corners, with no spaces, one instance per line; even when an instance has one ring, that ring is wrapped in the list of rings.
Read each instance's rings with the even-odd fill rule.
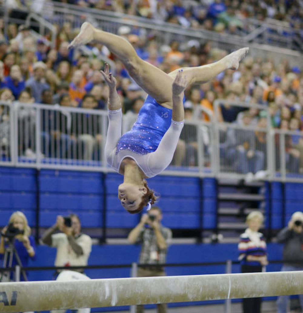
[[[172,110],[147,96],[132,129],[121,137],[122,111],[108,111],[105,154],[119,172],[124,158],[132,158],[146,177],[162,172],[171,162],[184,122],[171,119]]]

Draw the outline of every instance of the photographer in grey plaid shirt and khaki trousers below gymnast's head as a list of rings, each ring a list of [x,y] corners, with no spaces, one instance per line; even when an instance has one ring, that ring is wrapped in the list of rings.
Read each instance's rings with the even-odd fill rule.
[[[129,233],[128,240],[132,244],[142,244],[140,264],[165,264],[167,248],[172,233],[169,228],[161,225],[162,211],[152,207],[148,214],[143,214],[140,223]],[[164,268],[139,267],[138,277],[165,276]],[[158,312],[166,312],[166,304],[158,304]],[[137,313],[143,312],[143,305],[137,305]]]

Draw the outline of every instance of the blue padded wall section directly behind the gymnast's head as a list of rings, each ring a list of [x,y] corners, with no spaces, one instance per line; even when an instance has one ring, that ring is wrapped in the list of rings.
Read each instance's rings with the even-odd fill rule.
[[[138,216],[121,212],[117,198],[118,185],[123,182],[119,174],[106,177],[107,226],[132,228]],[[189,177],[158,176],[148,180],[149,187],[160,194],[157,202],[164,212],[163,224],[170,228],[198,228],[200,210],[200,180]]]

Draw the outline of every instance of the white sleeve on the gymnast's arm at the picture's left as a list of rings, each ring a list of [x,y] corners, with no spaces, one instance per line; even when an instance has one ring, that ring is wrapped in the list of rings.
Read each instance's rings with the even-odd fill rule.
[[[108,110],[108,129],[105,143],[105,157],[108,165],[112,166],[115,148],[121,137],[122,109]]]

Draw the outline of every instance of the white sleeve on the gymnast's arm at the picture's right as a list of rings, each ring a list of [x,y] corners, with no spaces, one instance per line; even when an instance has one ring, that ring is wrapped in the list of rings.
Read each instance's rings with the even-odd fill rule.
[[[164,171],[170,165],[174,156],[178,140],[184,126],[184,121],[171,121],[156,151],[149,153],[148,167],[155,175]]]

